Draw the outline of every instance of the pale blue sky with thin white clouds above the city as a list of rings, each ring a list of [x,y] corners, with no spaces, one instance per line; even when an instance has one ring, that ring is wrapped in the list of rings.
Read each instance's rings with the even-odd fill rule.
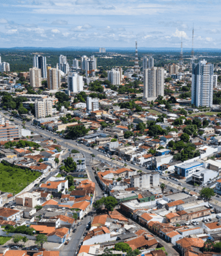
[[[221,48],[220,0],[0,0],[3,47]]]

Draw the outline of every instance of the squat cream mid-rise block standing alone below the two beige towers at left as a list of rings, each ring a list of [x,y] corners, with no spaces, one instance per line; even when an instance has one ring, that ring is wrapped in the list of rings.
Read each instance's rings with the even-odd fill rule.
[[[35,117],[37,119],[52,116],[53,101],[46,99],[35,100]]]

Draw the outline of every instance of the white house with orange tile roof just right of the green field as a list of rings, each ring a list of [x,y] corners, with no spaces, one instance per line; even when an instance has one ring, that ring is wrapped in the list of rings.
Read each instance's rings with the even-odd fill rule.
[[[65,191],[68,190],[68,180],[42,183],[39,188],[45,192],[58,193],[61,191],[62,194],[65,194]]]

